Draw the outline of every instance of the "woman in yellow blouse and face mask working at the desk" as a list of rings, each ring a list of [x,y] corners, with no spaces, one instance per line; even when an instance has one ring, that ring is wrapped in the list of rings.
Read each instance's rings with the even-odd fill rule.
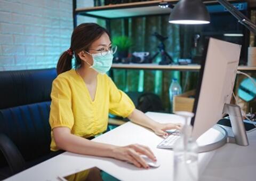
[[[80,24],[71,36],[69,50],[61,55],[51,92],[51,150],[111,157],[148,168],[140,154],[156,158],[147,146],[115,146],[89,140],[107,129],[109,112],[161,136],[167,135],[164,130],[180,128],[178,124],[159,124],[135,109],[130,98],[105,74],[116,51],[109,37],[98,24]],[[73,55],[76,69],[71,69]]]

